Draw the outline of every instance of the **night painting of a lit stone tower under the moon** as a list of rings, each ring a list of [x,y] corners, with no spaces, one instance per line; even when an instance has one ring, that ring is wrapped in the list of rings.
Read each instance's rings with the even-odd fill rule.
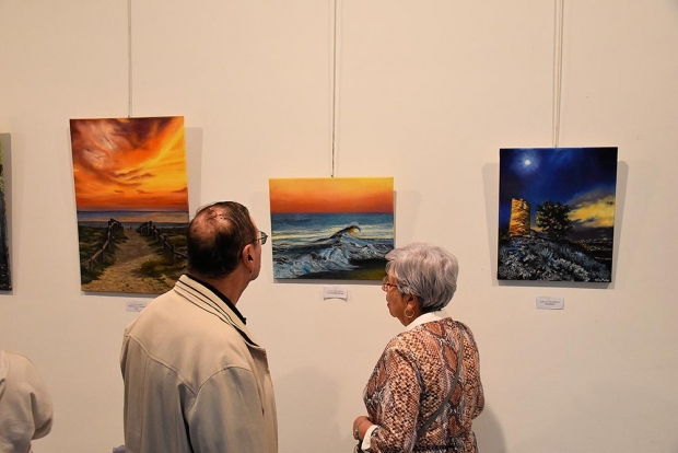
[[[612,281],[617,153],[500,150],[499,280]]]

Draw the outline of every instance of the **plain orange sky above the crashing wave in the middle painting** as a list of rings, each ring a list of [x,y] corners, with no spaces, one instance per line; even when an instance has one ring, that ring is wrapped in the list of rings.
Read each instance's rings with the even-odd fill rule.
[[[393,177],[269,179],[271,213],[393,212]]]

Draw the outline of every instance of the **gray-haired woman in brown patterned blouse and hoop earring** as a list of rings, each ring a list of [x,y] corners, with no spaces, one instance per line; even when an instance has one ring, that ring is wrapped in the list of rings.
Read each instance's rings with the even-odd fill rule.
[[[386,305],[406,329],[367,381],[356,451],[475,453],[471,421],[484,407],[478,348],[466,325],[440,312],[457,289],[457,259],[423,243],[386,258]]]

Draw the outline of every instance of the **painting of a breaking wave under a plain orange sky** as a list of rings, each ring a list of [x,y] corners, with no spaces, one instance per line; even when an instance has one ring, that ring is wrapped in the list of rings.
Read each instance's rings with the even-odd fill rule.
[[[269,191],[274,278],[384,278],[393,177],[272,178]]]

